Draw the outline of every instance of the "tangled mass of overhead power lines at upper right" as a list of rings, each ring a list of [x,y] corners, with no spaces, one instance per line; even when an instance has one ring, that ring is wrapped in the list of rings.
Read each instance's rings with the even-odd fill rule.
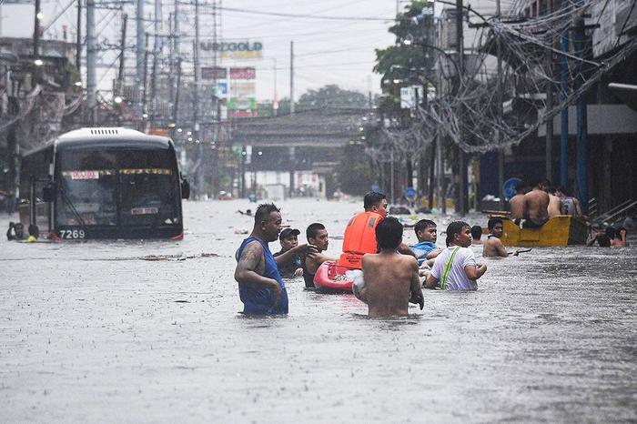
[[[469,49],[465,47],[470,53],[464,74],[444,76],[447,81],[443,86],[449,89],[438,86],[437,96],[427,106],[417,107],[422,124],[412,125],[408,130],[384,130],[381,143],[388,146],[380,149],[403,152],[414,146],[414,138],[422,149],[430,145],[437,131],[466,153],[486,153],[519,145],[637,50],[637,40],[622,38],[623,30],[619,35],[573,39],[572,30],[576,25],[584,25],[585,16],[596,16],[599,24],[605,8],[606,4],[600,0],[585,0],[537,18],[480,15],[483,23],[474,43]],[[521,12],[522,3],[516,1],[511,13],[521,15]],[[574,52],[561,51],[564,37],[571,38]],[[584,41],[591,39],[592,42]],[[624,41],[622,45],[620,39]],[[494,71],[498,43],[500,75]],[[592,60],[593,49],[602,44],[612,48],[603,61]],[[549,90],[560,100],[548,103]],[[500,98],[503,106],[499,105]]]

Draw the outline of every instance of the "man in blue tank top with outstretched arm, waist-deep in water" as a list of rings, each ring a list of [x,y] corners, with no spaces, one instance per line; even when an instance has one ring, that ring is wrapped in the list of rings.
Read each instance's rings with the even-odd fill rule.
[[[285,263],[294,256],[305,254],[308,245],[292,247],[282,255],[273,257],[268,243],[278,239],[281,222],[278,207],[272,203],[259,205],[252,233],[243,240],[235,255],[235,279],[245,314],[288,313],[288,291],[278,273],[277,263]]]

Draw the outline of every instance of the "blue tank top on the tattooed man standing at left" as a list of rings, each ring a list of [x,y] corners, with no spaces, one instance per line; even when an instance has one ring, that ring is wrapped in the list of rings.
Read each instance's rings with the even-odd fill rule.
[[[283,279],[278,273],[277,261],[272,256],[268,243],[265,243],[257,237],[248,237],[243,240],[243,243],[241,243],[241,246],[235,254],[235,258],[238,261],[238,258],[241,257],[241,254],[243,253],[243,249],[248,246],[248,243],[255,240],[261,244],[261,247],[263,247],[263,257],[266,259],[266,270],[263,273],[263,277],[277,280],[278,287],[281,288],[281,300],[278,302],[278,305],[275,306],[274,302],[277,297],[274,290],[271,288],[261,285],[238,283],[239,298],[243,302],[243,313],[250,315],[287,314],[288,290],[286,290],[286,285],[283,283]]]

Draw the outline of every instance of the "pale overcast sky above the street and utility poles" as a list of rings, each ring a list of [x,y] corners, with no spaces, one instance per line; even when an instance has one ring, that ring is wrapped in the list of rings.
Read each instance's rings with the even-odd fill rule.
[[[484,1],[484,0],[483,0]],[[99,3],[99,0],[96,0]],[[295,51],[295,96],[298,97],[309,88],[318,88],[328,84],[337,84],[343,88],[367,93],[379,92],[379,76],[372,72],[375,48],[384,48],[394,43],[394,36],[388,28],[396,15],[396,0],[240,0],[221,3],[220,35],[224,40],[260,41],[264,45],[263,59],[226,61],[225,66],[256,66],[257,97],[271,99],[274,96],[275,61],[277,66],[278,98],[289,96],[289,47],[294,41]],[[491,0],[492,4],[493,1]],[[62,25],[66,25],[70,39],[76,33],[75,0],[42,0],[45,26],[49,25],[71,5],[56,22],[51,25],[45,38],[61,38]],[[154,1],[147,1],[145,15],[153,13]],[[211,2],[200,0],[202,12],[211,10]],[[406,2],[401,2],[400,10]],[[163,1],[165,21],[172,12],[174,1]],[[128,5],[129,15],[128,44],[135,43],[135,11]],[[240,10],[229,10],[240,9]],[[187,19],[191,6],[183,6],[182,33],[194,35],[193,21]],[[437,7],[437,12],[440,6]],[[32,36],[34,21],[33,5],[3,5],[3,36]],[[283,14],[281,16],[268,14]],[[317,16],[337,16],[340,19],[317,19]],[[99,10],[96,14],[100,39],[107,38],[117,44],[121,19],[114,12]],[[212,36],[212,16],[200,15],[201,38]],[[148,24],[152,31],[152,24]],[[167,24],[164,31],[167,32]],[[86,29],[83,29],[83,33]],[[192,50],[192,49],[190,49]],[[132,56],[132,53],[129,55]],[[116,52],[106,53],[103,62],[114,62]],[[202,63],[202,65],[207,65]],[[185,66],[188,66],[185,64]],[[98,69],[100,89],[110,89],[114,71],[106,73],[105,68]]]

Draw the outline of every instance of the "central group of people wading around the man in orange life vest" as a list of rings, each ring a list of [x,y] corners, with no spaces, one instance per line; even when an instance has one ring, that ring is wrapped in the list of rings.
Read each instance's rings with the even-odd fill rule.
[[[354,293],[367,303],[372,317],[407,315],[410,302],[422,308],[422,288],[478,288],[477,280],[487,271],[487,266],[476,260],[470,248],[473,237],[468,223],[451,222],[446,230],[446,247],[441,248],[437,245],[436,223],[421,219],[414,226],[418,242],[408,246],[403,241],[402,223],[395,217],[387,217],[387,207],[385,195],[368,193],[364,198],[365,211],[352,217],[346,227],[343,254],[332,258],[324,253],[329,247],[325,226],[309,225],[308,244],[299,244],[298,229],[280,230],[282,217],[278,207],[260,205],[254,215],[252,233],[236,254],[235,279],[244,313],[288,313],[283,278],[302,276],[306,287],[313,288],[315,273],[326,261],[362,270],[362,284],[355,284]],[[489,229],[490,237],[484,243],[485,256],[509,256],[501,242],[498,243],[501,218],[490,219]],[[277,239],[281,249],[272,254],[268,242]],[[369,246],[363,246],[365,243]]]

